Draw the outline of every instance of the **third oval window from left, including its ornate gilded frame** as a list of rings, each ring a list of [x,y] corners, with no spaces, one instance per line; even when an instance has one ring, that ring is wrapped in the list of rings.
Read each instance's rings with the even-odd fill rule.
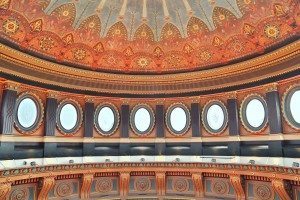
[[[119,113],[115,106],[102,104],[95,112],[95,126],[97,131],[104,136],[112,135],[119,125]]]

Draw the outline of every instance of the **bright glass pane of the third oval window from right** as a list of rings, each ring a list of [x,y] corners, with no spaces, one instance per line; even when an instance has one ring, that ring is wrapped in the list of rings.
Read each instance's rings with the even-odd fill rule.
[[[207,123],[213,130],[219,130],[225,121],[225,114],[221,106],[214,104],[207,110]]]

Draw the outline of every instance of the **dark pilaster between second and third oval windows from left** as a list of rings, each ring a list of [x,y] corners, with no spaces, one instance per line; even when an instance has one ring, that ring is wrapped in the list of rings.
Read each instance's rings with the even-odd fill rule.
[[[86,102],[84,106],[84,137],[93,137],[94,103]]]

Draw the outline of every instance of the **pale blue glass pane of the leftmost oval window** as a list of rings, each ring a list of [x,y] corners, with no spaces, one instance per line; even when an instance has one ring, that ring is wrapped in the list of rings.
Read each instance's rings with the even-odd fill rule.
[[[18,121],[24,128],[31,127],[38,117],[37,105],[31,98],[23,99],[18,107]]]

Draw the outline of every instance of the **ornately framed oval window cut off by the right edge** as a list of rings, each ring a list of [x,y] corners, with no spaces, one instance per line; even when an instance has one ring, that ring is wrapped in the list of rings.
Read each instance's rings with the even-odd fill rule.
[[[291,88],[283,101],[285,119],[293,128],[300,129],[300,86]]]

